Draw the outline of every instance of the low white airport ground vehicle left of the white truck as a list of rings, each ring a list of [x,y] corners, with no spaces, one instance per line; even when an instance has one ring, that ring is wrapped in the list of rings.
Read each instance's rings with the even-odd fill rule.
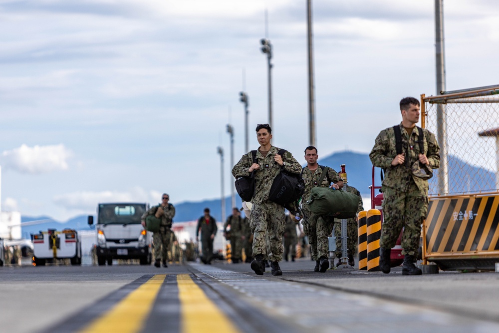
[[[31,234],[33,265],[44,266],[47,261],[68,258],[71,265],[81,265],[81,240],[74,229],[48,229]]]

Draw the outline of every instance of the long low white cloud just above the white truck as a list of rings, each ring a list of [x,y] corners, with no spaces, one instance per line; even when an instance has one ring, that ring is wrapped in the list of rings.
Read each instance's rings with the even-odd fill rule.
[[[94,211],[101,202],[159,202],[162,192],[134,187],[128,191],[79,191],[54,196],[56,205],[68,210]]]

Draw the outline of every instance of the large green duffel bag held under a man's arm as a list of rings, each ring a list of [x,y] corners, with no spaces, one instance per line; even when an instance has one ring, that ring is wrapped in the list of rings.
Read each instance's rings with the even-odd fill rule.
[[[307,204],[310,211],[316,215],[350,219],[357,214],[359,200],[361,200],[359,196],[350,192],[314,187]]]

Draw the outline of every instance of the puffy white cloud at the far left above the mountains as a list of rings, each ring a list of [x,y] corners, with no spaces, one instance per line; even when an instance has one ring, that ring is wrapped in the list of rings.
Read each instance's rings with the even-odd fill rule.
[[[54,170],[67,170],[67,159],[72,156],[71,150],[63,144],[28,147],[22,144],[19,148],[2,153],[1,162],[5,168],[18,172],[40,174]]]

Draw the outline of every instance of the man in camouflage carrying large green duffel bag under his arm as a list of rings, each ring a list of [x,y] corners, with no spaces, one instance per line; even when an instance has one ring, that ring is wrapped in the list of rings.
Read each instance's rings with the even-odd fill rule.
[[[324,273],[329,268],[329,241],[327,238],[331,236],[333,231],[334,218],[313,214],[306,202],[310,200],[313,187],[329,187],[329,184],[333,182],[332,187],[338,189],[339,187],[336,183],[341,178],[334,169],[329,168],[326,177],[318,184],[322,173],[322,168],[317,164],[318,157],[317,148],[313,146],[305,148],[307,166],[303,168],[302,172],[303,181],[305,182],[305,192],[301,196],[301,209],[304,215],[301,224],[303,224],[303,232],[308,236],[312,259],[315,260],[314,271]]]

